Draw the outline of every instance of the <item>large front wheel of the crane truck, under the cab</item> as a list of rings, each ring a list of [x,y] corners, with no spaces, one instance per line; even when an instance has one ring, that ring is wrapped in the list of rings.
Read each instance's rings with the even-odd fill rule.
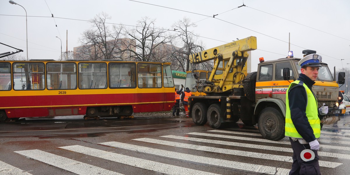
[[[285,137],[284,117],[274,107],[267,107],[261,111],[258,127],[262,137],[265,139],[281,140]]]

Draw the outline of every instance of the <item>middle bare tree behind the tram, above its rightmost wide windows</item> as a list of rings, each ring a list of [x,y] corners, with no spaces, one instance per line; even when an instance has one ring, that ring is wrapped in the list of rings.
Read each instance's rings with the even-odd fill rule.
[[[170,36],[166,36],[166,30],[156,29],[154,27],[155,20],[148,17],[138,21],[137,27],[133,29],[125,29],[125,35],[131,38],[130,44],[132,49],[130,57],[135,61],[159,61],[162,51],[159,50],[164,44],[170,42]]]

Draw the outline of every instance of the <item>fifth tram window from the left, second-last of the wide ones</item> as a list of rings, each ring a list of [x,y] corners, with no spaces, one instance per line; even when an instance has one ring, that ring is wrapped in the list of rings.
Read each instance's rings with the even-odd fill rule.
[[[136,65],[125,63],[110,63],[109,83],[111,88],[136,87]]]

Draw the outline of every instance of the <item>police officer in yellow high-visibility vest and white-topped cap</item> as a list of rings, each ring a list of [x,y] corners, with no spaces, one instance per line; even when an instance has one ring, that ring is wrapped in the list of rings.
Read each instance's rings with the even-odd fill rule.
[[[318,165],[317,151],[320,144],[320,115],[328,113],[328,106],[317,107],[317,99],[311,87],[317,79],[322,57],[310,54],[299,61],[301,73],[299,78],[290,83],[286,93],[286,125],[285,135],[289,137],[293,148],[293,164],[289,175],[321,174]],[[301,152],[311,149],[315,154],[313,160],[304,161]],[[308,151],[308,150],[306,150]]]

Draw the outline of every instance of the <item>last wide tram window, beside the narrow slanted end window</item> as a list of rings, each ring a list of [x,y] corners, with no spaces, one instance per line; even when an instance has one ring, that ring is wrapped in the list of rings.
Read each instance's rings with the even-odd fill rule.
[[[160,64],[138,64],[138,85],[140,88],[162,87]]]

